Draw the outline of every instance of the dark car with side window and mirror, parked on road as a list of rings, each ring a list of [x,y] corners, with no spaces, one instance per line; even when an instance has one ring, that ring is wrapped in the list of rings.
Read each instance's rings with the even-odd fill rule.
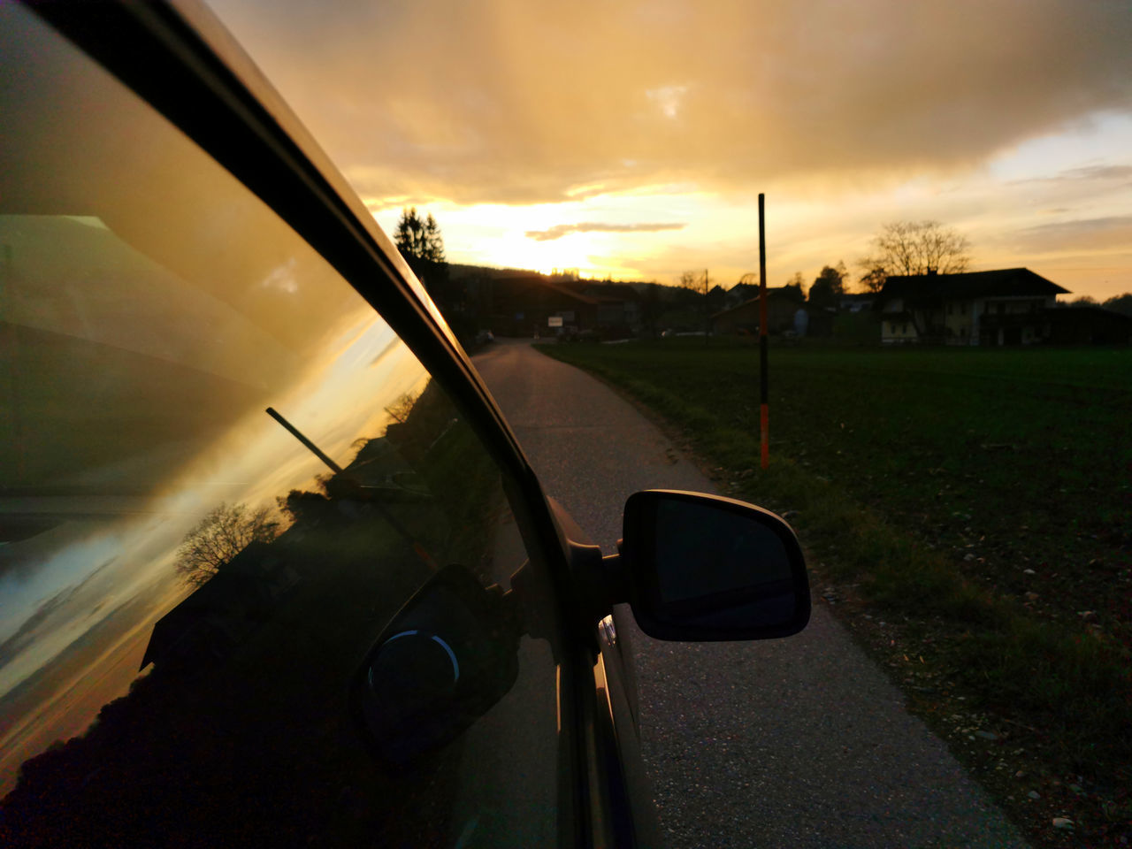
[[[659,844],[626,611],[797,633],[789,525],[590,544],[205,7],[3,3],[0,62],[0,842]]]

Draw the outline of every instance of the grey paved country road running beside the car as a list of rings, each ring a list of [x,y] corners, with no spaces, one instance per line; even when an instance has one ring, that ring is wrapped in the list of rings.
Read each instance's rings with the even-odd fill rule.
[[[632,405],[523,342],[475,365],[543,486],[611,551],[637,489],[714,491]],[[684,847],[1024,847],[823,606],[757,643],[635,636],[646,766]]]

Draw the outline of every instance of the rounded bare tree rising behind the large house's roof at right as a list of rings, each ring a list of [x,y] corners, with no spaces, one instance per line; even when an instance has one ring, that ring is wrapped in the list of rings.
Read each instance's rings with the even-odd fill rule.
[[[874,252],[857,260],[865,272],[860,282],[875,292],[892,274],[966,272],[969,248],[964,235],[937,221],[895,221],[873,239]]]

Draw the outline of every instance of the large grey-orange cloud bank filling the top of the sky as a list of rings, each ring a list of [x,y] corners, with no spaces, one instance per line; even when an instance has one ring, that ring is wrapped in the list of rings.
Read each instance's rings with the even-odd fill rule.
[[[213,0],[367,197],[951,171],[1132,103],[1127,0]]]

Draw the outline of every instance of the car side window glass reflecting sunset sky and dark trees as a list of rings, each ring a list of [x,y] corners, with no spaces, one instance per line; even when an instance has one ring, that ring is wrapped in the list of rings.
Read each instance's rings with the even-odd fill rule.
[[[2,841],[552,843],[555,612],[475,435],[10,3],[0,61]]]

